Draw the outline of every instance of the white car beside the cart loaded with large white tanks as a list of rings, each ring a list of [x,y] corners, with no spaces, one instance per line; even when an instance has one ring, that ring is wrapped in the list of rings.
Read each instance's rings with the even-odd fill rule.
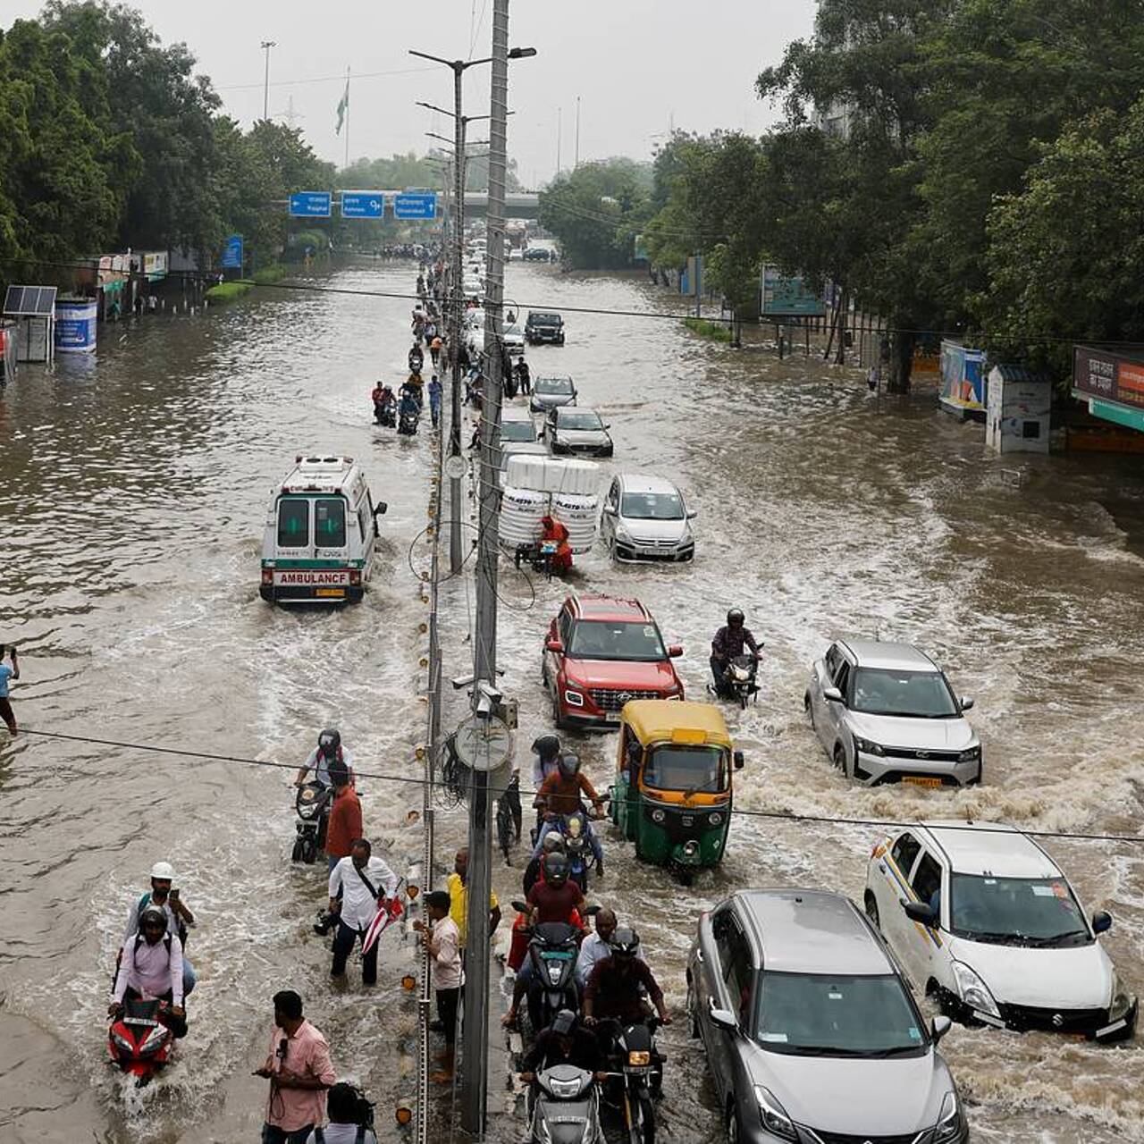
[[[621,472],[604,499],[601,534],[621,564],[690,561],[696,555],[694,517],[670,480]]]

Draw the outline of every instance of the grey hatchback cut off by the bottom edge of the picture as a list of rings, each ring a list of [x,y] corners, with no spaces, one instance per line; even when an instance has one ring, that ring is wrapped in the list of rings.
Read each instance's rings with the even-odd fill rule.
[[[688,960],[728,1138],[963,1144],[961,1098],[889,948],[849,898],[744,890],[699,917]]]

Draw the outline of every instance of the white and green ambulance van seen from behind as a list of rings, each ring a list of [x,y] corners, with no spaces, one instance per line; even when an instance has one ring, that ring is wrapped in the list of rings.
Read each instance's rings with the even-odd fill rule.
[[[359,601],[386,507],[374,507],[352,456],[300,453],[272,494],[259,595],[279,604]]]

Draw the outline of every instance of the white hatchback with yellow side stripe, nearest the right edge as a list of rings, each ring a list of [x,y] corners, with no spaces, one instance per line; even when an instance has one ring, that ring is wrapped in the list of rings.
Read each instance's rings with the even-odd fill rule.
[[[1068,880],[1027,835],[934,821],[887,835],[866,868],[866,913],[919,990],[961,1020],[1130,1038],[1138,1002]]]

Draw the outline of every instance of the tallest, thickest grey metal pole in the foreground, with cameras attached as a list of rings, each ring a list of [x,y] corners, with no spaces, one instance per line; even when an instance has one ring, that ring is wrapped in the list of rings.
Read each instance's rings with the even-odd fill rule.
[[[505,294],[505,178],[508,165],[508,62],[534,56],[534,48],[508,50],[508,0],[493,0],[492,85],[488,120],[488,275],[485,279],[485,386],[480,419],[477,622],[474,636],[474,714],[488,718],[496,694],[496,561],[500,511],[496,472],[505,350],[501,309]],[[484,712],[484,716],[482,716]],[[487,723],[486,723],[487,725]],[[483,1136],[488,1099],[488,893],[492,889],[492,832],[487,771],[472,770],[469,794],[469,874],[461,1127]]]

